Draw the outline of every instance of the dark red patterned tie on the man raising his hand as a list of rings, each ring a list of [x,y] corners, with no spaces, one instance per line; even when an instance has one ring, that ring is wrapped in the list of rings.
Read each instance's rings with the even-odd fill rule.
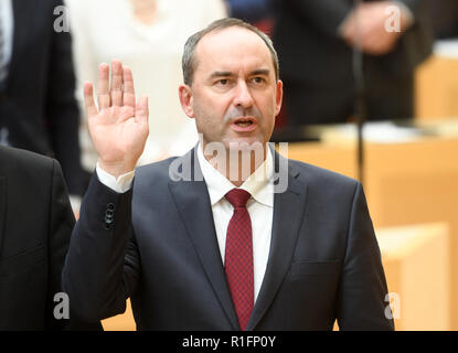
[[[234,214],[227,226],[224,268],[238,324],[245,331],[254,304],[252,220],[246,210],[251,194],[233,189],[225,197],[234,206]]]

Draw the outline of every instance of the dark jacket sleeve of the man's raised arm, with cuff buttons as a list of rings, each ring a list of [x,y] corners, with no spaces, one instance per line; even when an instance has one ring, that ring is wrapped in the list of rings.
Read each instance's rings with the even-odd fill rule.
[[[94,322],[126,310],[140,271],[131,195],[116,193],[97,175],[90,181],[62,275],[72,318]]]

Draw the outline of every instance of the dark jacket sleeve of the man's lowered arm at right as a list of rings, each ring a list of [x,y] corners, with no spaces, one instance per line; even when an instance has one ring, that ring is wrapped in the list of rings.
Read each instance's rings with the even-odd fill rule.
[[[385,317],[387,292],[379,244],[362,185],[358,183],[339,287],[340,330],[394,330],[393,320]]]

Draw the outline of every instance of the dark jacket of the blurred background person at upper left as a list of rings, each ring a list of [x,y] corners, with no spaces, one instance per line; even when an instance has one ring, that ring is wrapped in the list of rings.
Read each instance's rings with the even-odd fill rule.
[[[62,0],[11,3],[13,50],[0,89],[0,128],[9,129],[11,146],[55,157],[70,193],[83,195],[71,36],[54,31],[54,9]]]

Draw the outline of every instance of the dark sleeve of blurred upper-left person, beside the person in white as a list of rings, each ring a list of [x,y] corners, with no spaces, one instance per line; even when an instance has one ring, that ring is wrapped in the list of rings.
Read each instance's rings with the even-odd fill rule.
[[[62,6],[62,0],[54,6]],[[54,21],[55,18],[51,17]],[[57,32],[53,23],[50,54],[49,92],[46,116],[55,158],[62,164],[68,192],[83,195],[84,181],[79,150],[79,109],[75,98],[75,73],[73,66],[72,38],[68,32]]]

